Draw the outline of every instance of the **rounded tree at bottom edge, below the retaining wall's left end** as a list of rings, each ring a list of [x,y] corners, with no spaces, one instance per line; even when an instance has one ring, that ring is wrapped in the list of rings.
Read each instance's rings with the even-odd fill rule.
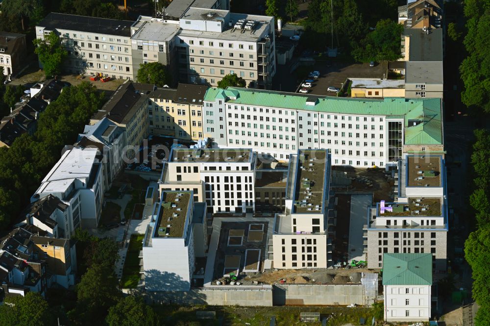
[[[105,321],[109,326],[158,325],[153,309],[141,298],[131,295],[110,307]]]

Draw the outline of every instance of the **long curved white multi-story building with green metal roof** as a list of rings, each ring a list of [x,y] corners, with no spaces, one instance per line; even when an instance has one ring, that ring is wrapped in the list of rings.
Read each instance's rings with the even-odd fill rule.
[[[359,99],[228,87],[204,97],[204,137],[279,161],[327,148],[332,164],[396,165],[406,151],[443,150],[441,99]]]

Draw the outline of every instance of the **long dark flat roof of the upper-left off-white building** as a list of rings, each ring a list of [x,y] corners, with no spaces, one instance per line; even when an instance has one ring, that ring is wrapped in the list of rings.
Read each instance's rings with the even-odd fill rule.
[[[87,33],[131,36],[130,27],[133,21],[96,18],[51,12],[37,26],[48,30],[66,29]]]

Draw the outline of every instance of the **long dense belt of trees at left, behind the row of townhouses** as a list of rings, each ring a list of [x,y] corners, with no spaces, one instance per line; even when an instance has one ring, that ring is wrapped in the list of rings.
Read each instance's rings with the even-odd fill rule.
[[[0,230],[10,227],[10,218],[19,216],[62,148],[76,141],[103,99],[104,94],[88,82],[66,87],[39,116],[34,135],[24,133],[10,148],[0,148]]]

